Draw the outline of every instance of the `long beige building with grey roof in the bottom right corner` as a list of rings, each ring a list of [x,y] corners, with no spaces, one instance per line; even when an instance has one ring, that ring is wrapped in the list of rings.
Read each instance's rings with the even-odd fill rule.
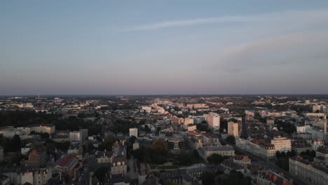
[[[289,158],[289,173],[302,179],[306,184],[326,185],[328,167],[324,163],[311,163],[301,156]]]

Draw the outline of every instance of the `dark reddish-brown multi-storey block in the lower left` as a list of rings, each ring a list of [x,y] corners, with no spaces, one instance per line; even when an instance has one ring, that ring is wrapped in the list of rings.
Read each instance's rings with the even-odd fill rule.
[[[45,167],[47,163],[47,151],[44,146],[34,149],[29,153],[28,165],[32,168]]]

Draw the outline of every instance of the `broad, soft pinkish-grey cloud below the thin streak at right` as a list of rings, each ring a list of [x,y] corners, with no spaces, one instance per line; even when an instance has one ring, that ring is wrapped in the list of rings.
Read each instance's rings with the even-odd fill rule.
[[[302,32],[262,39],[233,46],[210,56],[216,67],[229,72],[252,71],[259,68],[308,68],[321,71],[328,67],[328,31]]]

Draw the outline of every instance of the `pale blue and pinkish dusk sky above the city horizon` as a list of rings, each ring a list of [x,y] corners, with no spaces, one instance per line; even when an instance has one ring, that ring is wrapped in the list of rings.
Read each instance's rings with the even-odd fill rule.
[[[0,1],[0,95],[328,94],[328,1]]]

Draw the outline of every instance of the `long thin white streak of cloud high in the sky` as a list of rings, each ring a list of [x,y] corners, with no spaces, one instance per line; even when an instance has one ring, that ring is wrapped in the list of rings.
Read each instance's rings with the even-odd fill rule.
[[[301,21],[315,23],[327,21],[328,11],[284,11],[275,13],[264,13],[259,15],[228,15],[216,18],[196,18],[191,20],[176,20],[169,22],[156,22],[149,25],[139,25],[132,28],[130,31],[146,31],[153,29],[163,29],[169,27],[183,27],[191,25],[204,25],[210,23],[252,23],[252,22],[290,22]]]

